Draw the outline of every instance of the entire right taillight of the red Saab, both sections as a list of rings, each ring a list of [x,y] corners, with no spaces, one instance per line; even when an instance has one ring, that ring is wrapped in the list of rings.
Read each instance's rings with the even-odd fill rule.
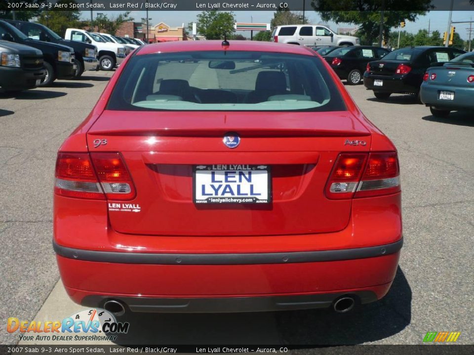
[[[396,152],[341,153],[326,184],[329,199],[387,195],[400,191]]]

